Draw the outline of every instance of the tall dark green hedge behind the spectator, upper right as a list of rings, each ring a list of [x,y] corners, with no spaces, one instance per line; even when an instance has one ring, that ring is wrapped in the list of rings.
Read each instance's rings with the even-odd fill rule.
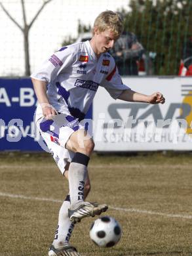
[[[121,10],[125,30],[137,35],[147,55],[156,53],[154,73],[177,75],[192,35],[192,0],[131,0],[130,8]]]

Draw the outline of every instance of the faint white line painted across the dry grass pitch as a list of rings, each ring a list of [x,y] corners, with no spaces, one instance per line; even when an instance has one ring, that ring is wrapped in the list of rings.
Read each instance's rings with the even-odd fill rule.
[[[47,202],[54,202],[54,203],[62,203],[63,202],[62,200],[56,200],[56,199],[52,199],[52,198],[37,198],[37,197],[9,194],[9,193],[3,193],[3,192],[0,192],[0,196],[7,197],[7,198],[20,198],[20,199],[26,199],[26,200],[47,201]],[[113,209],[116,211],[126,211],[126,212],[130,212],[130,213],[143,213],[146,215],[159,215],[159,216],[164,216],[164,217],[168,217],[168,218],[192,219],[192,215],[159,213],[156,211],[146,211],[146,210],[140,210],[140,209],[134,209],[134,208],[126,209],[126,208],[113,207],[113,206],[109,206],[109,207],[110,207],[110,209]]]

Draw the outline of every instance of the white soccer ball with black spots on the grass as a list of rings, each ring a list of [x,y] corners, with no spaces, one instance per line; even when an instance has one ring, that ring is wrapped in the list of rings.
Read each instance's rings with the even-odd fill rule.
[[[90,226],[90,239],[100,247],[112,247],[121,238],[120,224],[110,216],[96,219]]]

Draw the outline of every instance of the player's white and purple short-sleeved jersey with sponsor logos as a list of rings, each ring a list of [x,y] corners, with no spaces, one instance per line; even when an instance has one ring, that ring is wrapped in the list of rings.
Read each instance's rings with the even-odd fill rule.
[[[113,57],[103,53],[97,58],[89,41],[62,47],[31,77],[47,82],[48,100],[58,112],[69,112],[79,121],[85,117],[99,86],[115,99],[130,89],[122,83]],[[43,116],[41,106],[37,106],[36,116]]]

